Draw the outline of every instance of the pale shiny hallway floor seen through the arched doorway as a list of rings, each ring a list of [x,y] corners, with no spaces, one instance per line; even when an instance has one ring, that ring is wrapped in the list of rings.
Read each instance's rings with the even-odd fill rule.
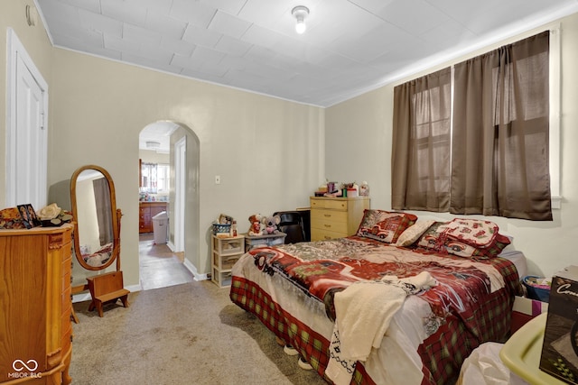
[[[182,263],[182,253],[172,252],[164,243],[154,243],[153,234],[140,234],[138,249],[143,290],[180,285],[194,280],[191,271]]]

